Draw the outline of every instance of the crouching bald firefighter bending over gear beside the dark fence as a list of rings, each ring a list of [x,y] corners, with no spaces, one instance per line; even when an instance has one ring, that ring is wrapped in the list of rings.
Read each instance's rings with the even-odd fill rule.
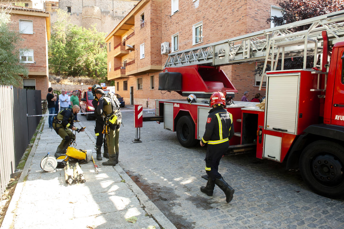
[[[73,125],[74,115],[79,113],[80,107],[78,105],[74,105],[72,108],[66,108],[65,110],[58,113],[54,116],[53,119],[53,128],[60,137],[62,137],[62,141],[60,145],[57,147],[55,157],[58,158],[62,155],[66,155],[66,150],[69,145],[75,140],[75,135],[72,131],[79,131],[79,129],[75,128]],[[70,130],[72,129],[72,131]],[[80,131],[85,131],[84,129]]]

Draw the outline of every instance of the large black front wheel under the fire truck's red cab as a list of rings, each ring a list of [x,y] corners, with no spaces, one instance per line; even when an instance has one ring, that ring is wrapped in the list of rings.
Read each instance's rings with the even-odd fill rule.
[[[309,144],[300,157],[300,172],[305,183],[319,195],[344,196],[344,147],[328,140]]]

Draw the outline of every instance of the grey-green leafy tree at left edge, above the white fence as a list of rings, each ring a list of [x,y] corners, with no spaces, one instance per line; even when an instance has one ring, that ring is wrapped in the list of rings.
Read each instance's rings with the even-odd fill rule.
[[[0,11],[0,84],[22,86],[22,77],[28,77],[29,70],[19,59],[19,31],[10,29],[8,9]],[[20,76],[23,75],[23,76]]]

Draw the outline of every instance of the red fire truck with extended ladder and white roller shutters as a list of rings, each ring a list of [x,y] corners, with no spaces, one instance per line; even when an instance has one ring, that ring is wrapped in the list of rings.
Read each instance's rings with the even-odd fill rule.
[[[253,148],[257,158],[299,168],[316,193],[343,196],[343,21],[344,10],[169,54],[159,90],[195,94],[197,100],[156,100],[156,116],[176,131],[182,146],[195,145],[205,131],[210,95],[237,92],[220,66],[264,61],[263,72],[271,66],[261,80],[266,79],[265,109],[250,102],[226,106],[235,130],[228,152]],[[309,29],[292,32],[300,25]],[[305,69],[307,56],[314,56],[313,69]],[[283,70],[284,59],[292,57],[304,58],[303,69]],[[279,59],[282,69],[276,70]]]

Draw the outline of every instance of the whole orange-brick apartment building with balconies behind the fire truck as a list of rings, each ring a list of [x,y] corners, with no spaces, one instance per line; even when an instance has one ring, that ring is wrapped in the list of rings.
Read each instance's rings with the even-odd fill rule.
[[[116,92],[127,104],[146,105],[148,97],[182,98],[158,90],[158,75],[167,59],[161,54],[162,43],[171,53],[270,28],[266,19],[280,12],[276,2],[141,0],[106,37],[108,80],[115,80]],[[260,77],[255,79],[252,72],[255,66],[221,67],[238,90],[235,100],[246,90],[250,97],[259,92]]]

